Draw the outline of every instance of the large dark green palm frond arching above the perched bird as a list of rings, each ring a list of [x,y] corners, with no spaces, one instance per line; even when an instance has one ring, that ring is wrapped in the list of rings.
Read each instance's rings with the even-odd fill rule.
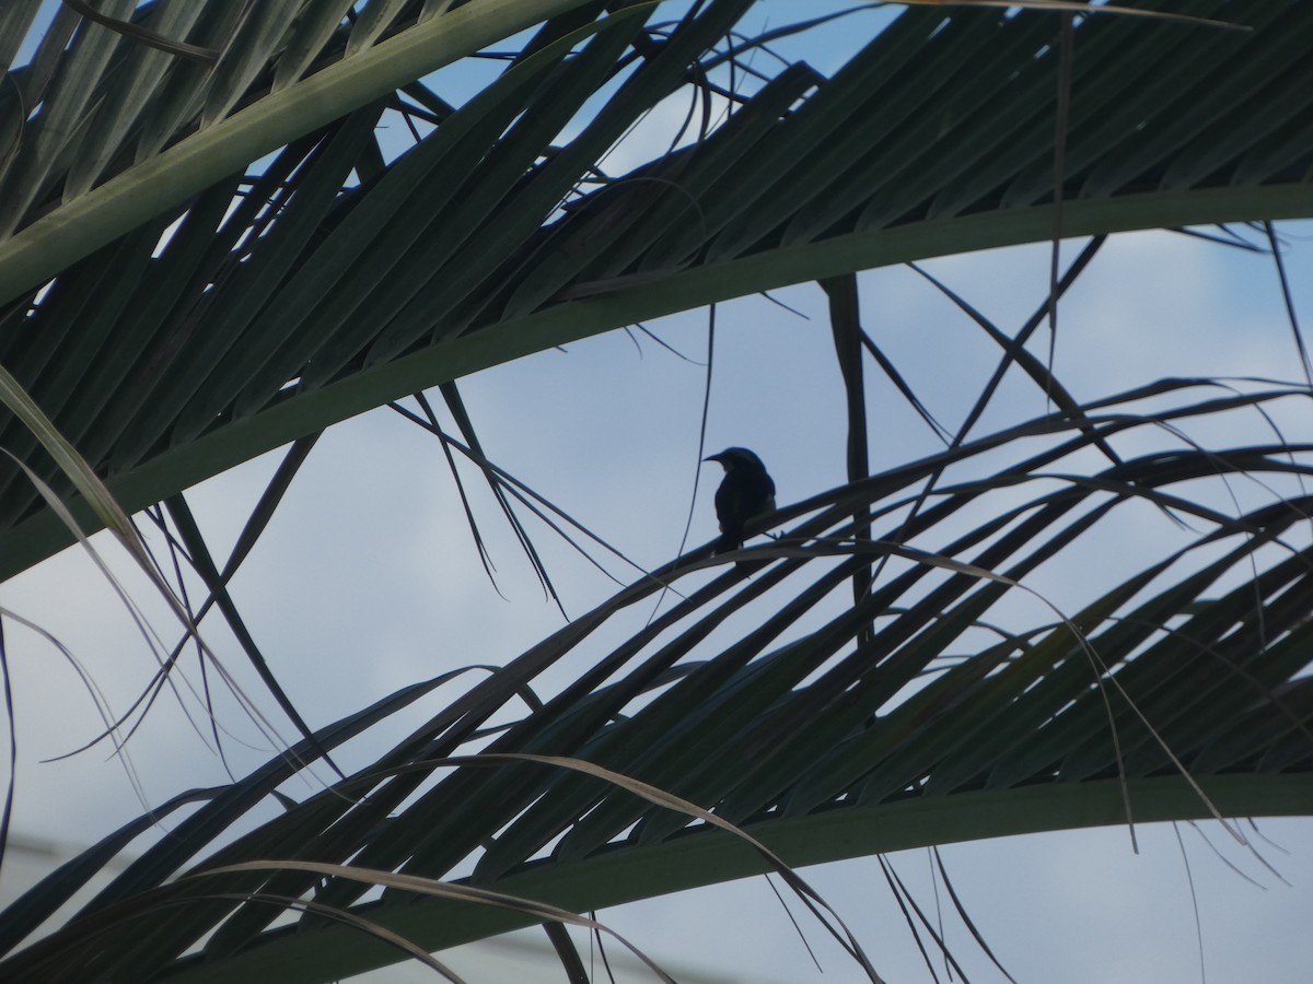
[[[0,252],[9,303],[0,356],[25,386],[58,379],[56,399],[77,394],[47,412],[129,508],[551,344],[781,283],[1049,235],[1054,25],[1044,14],[911,9],[832,77],[784,68],[696,146],[569,201],[635,119],[700,77],[699,60],[720,60],[708,52],[750,3],[708,4],[655,46],[642,41],[647,7],[617,7],[599,22],[609,26],[591,26],[596,4],[561,7],[571,13],[534,35],[532,54],[386,173],[331,194],[353,168],[374,174],[365,121],[377,104],[353,123],[307,123],[249,180],[244,207],[225,215],[231,177],[192,199],[155,195],[158,219],[70,265],[32,308],[32,291],[59,268],[29,276],[17,265],[43,253],[42,230],[81,222],[77,203],[100,193],[56,207],[62,172],[47,172],[49,190]],[[403,25],[419,4],[390,9]],[[1313,89],[1299,83],[1313,33],[1306,5],[1242,12],[1191,0],[1165,9],[1234,16],[1253,30],[1116,16],[1078,28],[1065,234],[1308,214],[1313,148],[1300,121]],[[257,130],[265,104],[331,83],[356,30],[326,42],[328,67],[305,83],[256,98],[270,84],[259,76],[251,109],[215,126]],[[117,42],[119,58],[131,43]],[[79,50],[59,67],[80,64]],[[280,42],[272,50],[281,52]],[[1204,63],[1209,71],[1199,72]],[[562,142],[599,89],[605,106]],[[360,106],[385,94],[360,93]],[[194,139],[190,126],[176,127],[177,148]],[[25,135],[20,156],[34,140]],[[1187,167],[1205,160],[1204,171]],[[16,163],[7,181],[20,182],[20,172]],[[126,167],[114,181],[134,174]],[[255,239],[252,223],[269,234]],[[84,251],[96,241],[89,230],[79,237]],[[97,299],[93,319],[80,314],[88,298]],[[74,324],[77,344],[56,345]],[[12,432],[8,440],[22,443]],[[5,488],[4,571],[13,572],[66,534],[12,472]]]

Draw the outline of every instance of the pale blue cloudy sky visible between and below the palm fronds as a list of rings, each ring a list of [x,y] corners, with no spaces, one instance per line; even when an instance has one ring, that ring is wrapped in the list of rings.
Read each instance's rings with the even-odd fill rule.
[[[1279,228],[1306,323],[1313,319],[1313,223]],[[927,268],[1002,328],[1015,331],[1045,294],[1048,251],[995,251]],[[863,274],[861,294],[864,327],[888,346],[931,409],[947,424],[957,422],[995,358],[978,329],[905,269]],[[777,297],[810,320],[763,298],[720,307],[706,429],[708,451],[726,445],[758,450],[785,504],[843,482],[844,432],[823,294],[815,285],[801,285]],[[641,335],[613,332],[482,373],[461,387],[494,461],[655,567],[679,548],[689,508],[692,543],[714,535],[710,496],[720,476],[709,467],[696,501],[691,499],[706,312],[647,328],[692,361]],[[1095,260],[1064,302],[1054,369],[1082,400],[1166,375],[1299,374],[1271,257],[1165,232],[1117,236]],[[873,468],[934,450],[931,434],[871,366],[868,380]],[[1012,382],[981,430],[1045,411],[1043,394]],[[1285,422],[1288,440],[1309,438],[1306,419]],[[1253,433],[1233,437],[1262,440]],[[265,455],[189,495],[218,556],[278,457]],[[466,479],[506,600],[478,568],[431,437],[382,409],[332,429],[316,446],[234,584],[248,625],[311,724],[445,669],[509,661],[559,627],[559,613],[544,601],[487,496],[471,474]],[[609,581],[551,542],[549,533],[534,533],[569,614],[612,592]],[[1150,535],[1175,543],[1179,531],[1162,522],[1157,531],[1145,531]],[[97,542],[112,552],[104,538]],[[1082,563],[1103,569],[1116,562],[1111,555],[1117,547],[1082,547],[1088,551]],[[1136,547],[1149,556],[1166,548],[1149,539]],[[147,589],[125,576],[138,597],[148,598]],[[1078,598],[1085,586],[1074,576],[1044,585],[1061,604]],[[154,669],[121,605],[77,550],[5,584],[0,604],[58,635],[116,708],[126,707]],[[158,609],[155,625],[172,639]],[[210,644],[248,691],[257,693],[222,626],[207,627]],[[12,623],[5,638],[18,707],[16,828],[91,841],[137,816],[142,804],[104,749],[41,762],[89,739],[98,722],[58,651]],[[188,678],[198,685],[194,661]],[[453,694],[439,691],[423,710]],[[227,744],[230,761],[236,768],[263,761],[267,749],[238,744],[259,741],[249,723],[231,702],[226,714],[236,735]],[[150,803],[225,778],[172,699],[155,708],[130,753]],[[1124,828],[949,845],[943,855],[987,942],[1020,981],[1197,981],[1197,901],[1207,980],[1296,984],[1313,966],[1306,929],[1313,912],[1313,821],[1259,821],[1259,829],[1284,849],[1255,838],[1288,886],[1216,824],[1140,828],[1138,855]],[[899,853],[892,861],[918,901],[932,908],[926,853]],[[893,981],[928,979],[874,859],[805,874],[857,930],[877,970]],[[825,967],[823,977],[817,974],[762,879],[624,907],[601,918],[658,959],[664,954],[684,966],[729,968],[742,980],[857,979],[829,939],[804,921]],[[947,911],[945,920],[970,979],[999,979]]]

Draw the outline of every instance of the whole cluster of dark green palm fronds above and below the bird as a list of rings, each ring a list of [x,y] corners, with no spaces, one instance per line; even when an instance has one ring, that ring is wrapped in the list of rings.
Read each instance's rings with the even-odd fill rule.
[[[827,76],[772,54],[819,21],[754,34],[752,7],[64,3],[5,75],[0,569],[76,522],[131,539],[117,508],[161,502],[209,592],[180,607],[173,659],[218,607],[302,739],[37,886],[0,916],[0,975],[332,979],[776,870],[874,977],[789,865],[1313,806],[1310,449],[1266,425],[1258,443],[1187,437],[1289,419],[1309,387],[1175,379],[1078,403],[1027,348],[1108,232],[1310,211],[1313,10],[932,4]],[[0,12],[0,63],[42,9]],[[475,55],[487,84],[444,97],[461,76],[432,73]],[[607,173],[681,94],[685,133]],[[1052,411],[979,436],[991,384],[941,453],[869,474],[867,357],[915,396],[861,329],[853,272],[1057,235],[1092,239],[1018,335],[957,299],[998,344],[995,384],[1016,367]],[[646,572],[291,799],[290,779],[448,682],[311,728],[242,626],[226,585],[316,436],[437,386],[462,433],[424,398],[416,420],[511,513],[534,500],[481,454],[461,377],[805,279],[831,298],[850,482],[771,517],[781,533],[737,564],[704,548]],[[288,442],[221,565],[179,493]],[[1040,598],[994,621],[1136,509],[1179,523],[1180,548],[1077,610]],[[596,642],[617,626],[625,642]],[[540,698],[575,655],[590,669]],[[281,813],[249,829],[270,798]]]

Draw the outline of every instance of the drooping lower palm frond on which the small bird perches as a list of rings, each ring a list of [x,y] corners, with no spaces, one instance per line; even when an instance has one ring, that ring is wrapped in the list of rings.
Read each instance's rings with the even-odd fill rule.
[[[171,979],[176,971],[221,980],[277,967],[280,976],[314,980],[398,956],[314,913],[299,932],[270,929],[277,911],[264,896],[309,893],[425,949],[532,918],[395,892],[361,901],[366,886],[322,882],[318,870],[230,871],[169,888],[169,904],[150,909],[148,933],[125,930],[113,945],[84,935],[95,920],[123,918],[116,907],[139,892],[147,903],[180,874],[243,859],[351,861],[429,878],[474,862],[471,884],[575,911],[760,870],[717,832],[689,829],[687,816],[595,778],[528,762],[450,761],[471,750],[596,762],[714,807],[790,863],[1111,823],[1128,807],[1137,821],[1213,808],[1305,812],[1313,690],[1295,677],[1308,665],[1313,631],[1313,499],[1292,493],[1228,516],[1209,504],[1208,487],[1233,475],[1292,485],[1309,472],[1313,449],[1196,450],[1169,438],[1159,451],[1127,454],[1088,478],[1066,472],[1099,442],[1165,434],[1162,422],[1308,400],[1301,390],[1217,398],[1208,388],[1179,382],[1127,394],[789,506],[776,517],[792,517],[785,534],[742,554],[751,580],[727,567],[630,642],[592,657],[592,669],[540,710],[513,711],[524,684],[567,653],[588,653],[596,630],[625,621],[658,581],[679,585],[705,567],[705,550],[562,628],[369,769],[232,844],[214,840],[290,766],[274,760],[209,795],[84,909],[93,922],[74,921],[0,968],[20,976],[158,968]],[[1152,419],[1124,412],[1145,399],[1157,404]],[[944,468],[951,484],[905,525],[919,484]],[[974,627],[1023,590],[1015,585],[1074,542],[1117,535],[1136,502],[1201,529],[1081,610],[1058,618],[1040,609],[1011,638],[979,643]],[[852,517],[865,509],[874,538],[853,539]],[[961,534],[962,513],[993,518]],[[892,558],[884,579],[856,605],[843,602],[853,571],[878,556]],[[748,617],[748,628],[709,648],[712,631],[737,615]],[[508,731],[481,737],[483,724],[508,711],[519,719]],[[320,741],[336,745],[357,727],[334,726]],[[312,756],[314,747],[299,753]],[[11,945],[58,901],[50,891],[7,913],[0,926]],[[247,893],[251,903],[236,901]],[[204,958],[185,956],[204,937]]]

